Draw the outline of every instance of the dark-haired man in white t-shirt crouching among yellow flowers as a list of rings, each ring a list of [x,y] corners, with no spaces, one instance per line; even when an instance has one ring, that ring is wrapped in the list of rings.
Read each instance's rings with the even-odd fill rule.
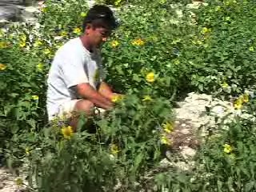
[[[83,22],[83,34],[66,42],[55,54],[47,90],[49,120],[71,118],[73,112],[93,114],[94,107],[110,110],[115,95],[103,81],[99,48],[117,27],[107,6],[93,6]],[[76,125],[74,125],[76,126]]]

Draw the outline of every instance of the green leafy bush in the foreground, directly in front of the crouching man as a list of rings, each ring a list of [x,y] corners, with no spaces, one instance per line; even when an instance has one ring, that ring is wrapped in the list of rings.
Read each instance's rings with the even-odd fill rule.
[[[126,96],[105,117],[95,117],[96,133],[82,129],[84,118],[78,133],[60,121],[38,134],[26,131],[16,136],[11,156],[17,150],[26,155],[30,185],[38,191],[113,191],[118,182],[135,190],[134,182],[158,164],[162,124],[172,121],[169,102],[139,100]],[[14,147],[18,142],[26,145]]]

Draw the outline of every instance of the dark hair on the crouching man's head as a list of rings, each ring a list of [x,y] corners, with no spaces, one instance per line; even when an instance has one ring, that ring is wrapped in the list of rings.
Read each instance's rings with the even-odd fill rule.
[[[102,5],[95,5],[88,10],[82,23],[83,31],[88,24],[91,24],[94,28],[105,27],[109,30],[114,30],[118,26],[112,10],[108,6]]]

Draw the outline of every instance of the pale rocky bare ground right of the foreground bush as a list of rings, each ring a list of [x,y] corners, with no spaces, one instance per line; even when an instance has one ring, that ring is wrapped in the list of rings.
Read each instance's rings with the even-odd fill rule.
[[[172,145],[162,160],[163,166],[174,166],[181,170],[190,170],[193,167],[193,157],[206,136],[207,128],[216,126],[214,117],[221,118],[232,108],[230,102],[223,102],[207,94],[187,95],[175,108],[176,120],[174,131],[170,134]],[[210,110],[207,110],[210,109]],[[178,154],[178,161],[173,154]]]

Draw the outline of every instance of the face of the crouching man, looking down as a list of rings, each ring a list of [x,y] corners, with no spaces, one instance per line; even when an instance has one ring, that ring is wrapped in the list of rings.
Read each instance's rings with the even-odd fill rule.
[[[99,48],[110,36],[110,30],[106,29],[105,27],[94,28],[92,26],[88,26],[86,28],[86,34],[88,35],[88,38],[90,38],[91,46]]]

